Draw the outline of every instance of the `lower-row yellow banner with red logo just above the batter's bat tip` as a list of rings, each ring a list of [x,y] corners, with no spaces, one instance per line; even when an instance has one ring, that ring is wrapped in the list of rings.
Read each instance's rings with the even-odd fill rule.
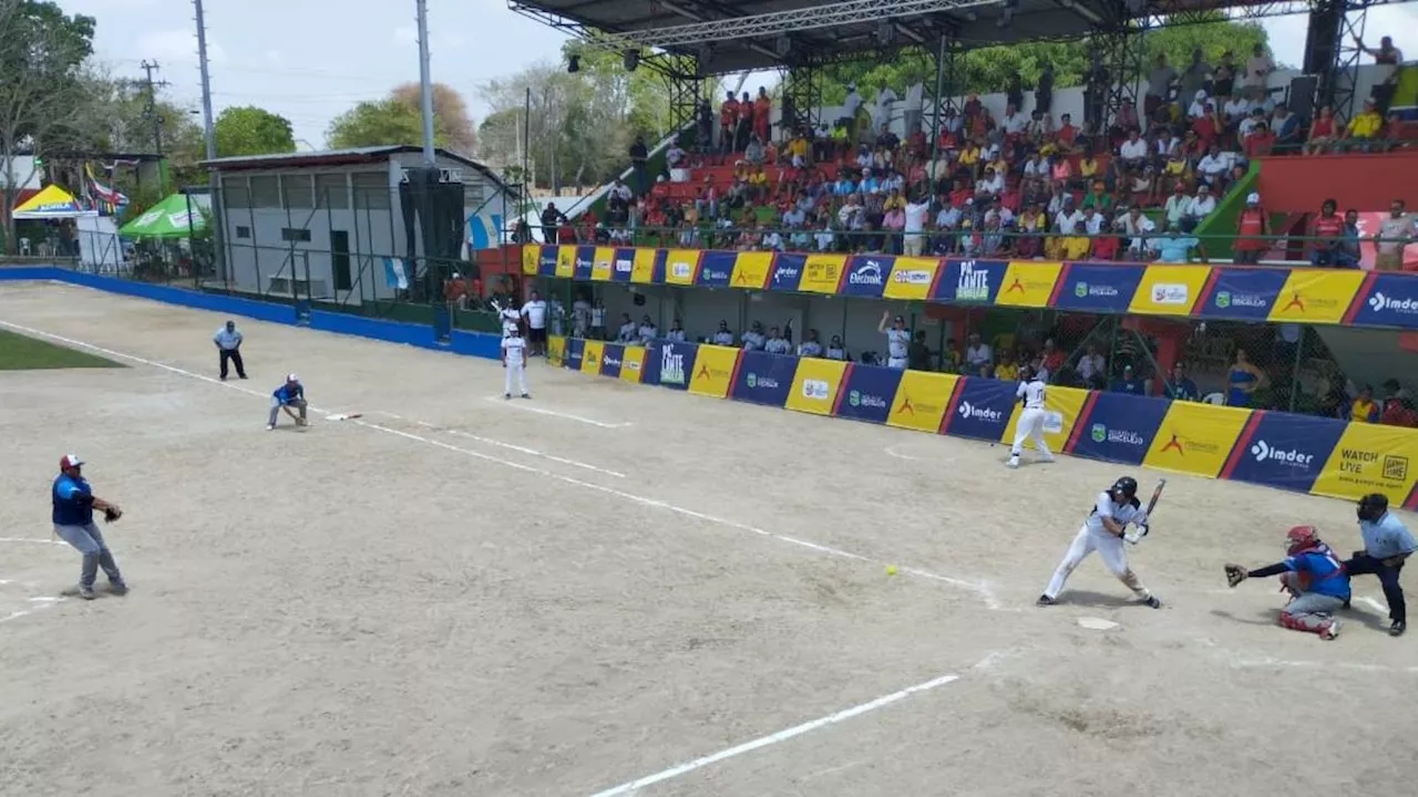
[[[1143,465],[1215,478],[1251,420],[1244,407],[1173,401],[1153,435]]]

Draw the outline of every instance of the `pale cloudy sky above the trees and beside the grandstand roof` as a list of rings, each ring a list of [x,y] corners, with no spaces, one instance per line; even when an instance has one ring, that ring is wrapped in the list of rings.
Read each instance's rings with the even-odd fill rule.
[[[98,20],[95,50],[115,75],[142,77],[146,58],[182,104],[199,106],[191,0],[58,0]],[[394,85],[418,79],[414,0],[206,0],[216,111],[259,105],[288,118],[302,149],[319,149],[330,119]],[[434,79],[462,92],[476,123],[479,87],[556,61],[563,35],[508,10],[505,0],[428,0]],[[1265,21],[1276,61],[1299,64],[1305,17]],[[1418,11],[1374,9],[1370,37],[1390,34],[1418,57]]]

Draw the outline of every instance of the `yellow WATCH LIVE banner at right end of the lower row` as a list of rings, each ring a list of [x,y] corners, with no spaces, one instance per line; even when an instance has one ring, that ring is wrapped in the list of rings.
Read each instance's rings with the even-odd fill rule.
[[[1361,498],[1371,492],[1401,506],[1418,476],[1418,430],[1351,423],[1340,435],[1310,492]]]

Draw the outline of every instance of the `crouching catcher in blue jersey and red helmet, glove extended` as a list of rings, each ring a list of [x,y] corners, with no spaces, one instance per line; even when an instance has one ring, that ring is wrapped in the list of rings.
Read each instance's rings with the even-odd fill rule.
[[[1320,540],[1314,526],[1295,526],[1285,535],[1285,559],[1246,570],[1227,564],[1227,581],[1235,587],[1246,579],[1280,576],[1280,587],[1290,593],[1290,603],[1280,610],[1280,625],[1319,634],[1322,640],[1339,637],[1334,613],[1349,603],[1349,573],[1330,546]]]

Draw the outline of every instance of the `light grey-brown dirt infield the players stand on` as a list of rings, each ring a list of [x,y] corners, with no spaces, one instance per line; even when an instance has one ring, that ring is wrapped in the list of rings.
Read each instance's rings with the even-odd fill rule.
[[[492,362],[257,322],[252,379],[223,384],[223,321],[0,284],[0,329],[132,366],[0,376],[0,794],[1388,797],[1418,779],[1418,637],[1384,634],[1377,581],[1322,642],[1273,624],[1273,581],[1221,573],[1276,560],[1302,520],[1356,547],[1346,503],[1171,478],[1132,552],[1161,611],[1096,559],[1038,610],[1119,467],[1008,472],[986,444],[542,363],[508,404]],[[319,411],[267,433],[289,370]],[[47,542],[65,451],[123,505],[128,597],[58,600],[79,564]]]

